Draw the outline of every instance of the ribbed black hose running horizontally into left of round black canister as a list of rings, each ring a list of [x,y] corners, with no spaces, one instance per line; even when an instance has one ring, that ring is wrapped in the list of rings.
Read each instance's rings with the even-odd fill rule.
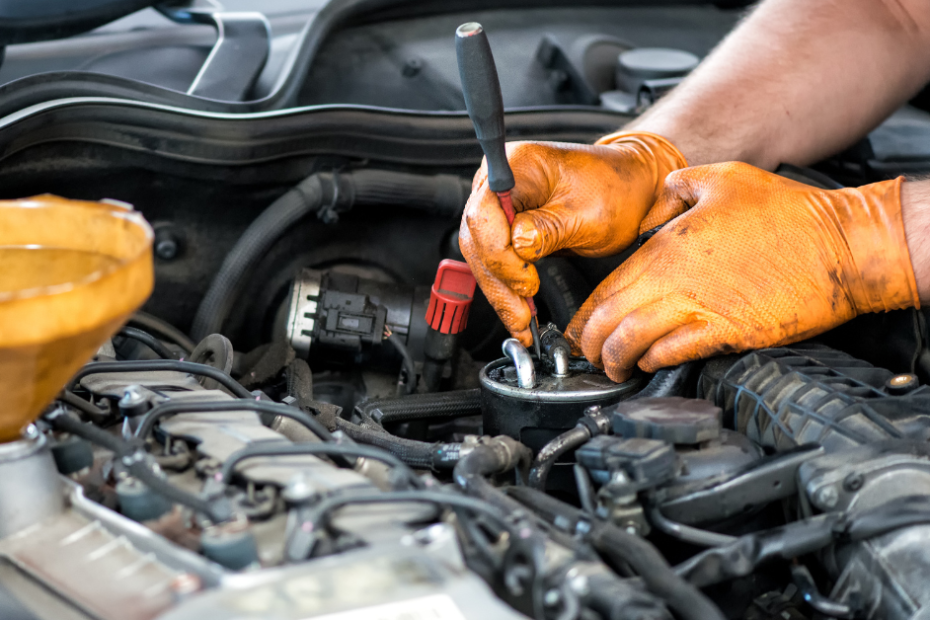
[[[377,398],[362,403],[358,410],[382,425],[430,418],[463,418],[481,414],[481,390]]]

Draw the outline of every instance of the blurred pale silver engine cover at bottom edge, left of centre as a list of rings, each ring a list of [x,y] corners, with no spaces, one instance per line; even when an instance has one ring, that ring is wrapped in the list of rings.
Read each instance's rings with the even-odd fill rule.
[[[454,537],[443,531],[447,527],[432,526],[393,545],[238,575],[228,587],[182,603],[159,620],[523,618],[453,563],[459,554]],[[436,537],[446,540],[437,545],[431,540]],[[433,545],[438,548],[431,550]]]

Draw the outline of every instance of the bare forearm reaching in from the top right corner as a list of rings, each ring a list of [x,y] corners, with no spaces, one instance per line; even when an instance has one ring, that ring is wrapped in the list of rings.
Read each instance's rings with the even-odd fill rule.
[[[925,0],[767,0],[628,126],[690,165],[807,164],[855,142],[930,80]]]

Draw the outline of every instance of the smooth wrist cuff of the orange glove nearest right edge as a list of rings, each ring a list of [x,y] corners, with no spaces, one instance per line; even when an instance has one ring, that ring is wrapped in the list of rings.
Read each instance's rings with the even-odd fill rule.
[[[920,308],[901,216],[903,180],[836,190],[846,198],[834,206],[849,248],[843,269],[858,314]]]

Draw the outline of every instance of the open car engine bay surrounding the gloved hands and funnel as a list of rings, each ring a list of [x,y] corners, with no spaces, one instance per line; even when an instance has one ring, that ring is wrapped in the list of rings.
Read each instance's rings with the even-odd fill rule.
[[[0,198],[132,205],[155,257],[143,309],[0,443],[0,617],[930,618],[924,311],[616,384],[562,332],[629,252],[537,263],[534,350],[458,247],[458,24],[489,33],[508,139],[593,142],[740,3],[188,4],[0,29]],[[925,104],[778,172],[930,171]]]

